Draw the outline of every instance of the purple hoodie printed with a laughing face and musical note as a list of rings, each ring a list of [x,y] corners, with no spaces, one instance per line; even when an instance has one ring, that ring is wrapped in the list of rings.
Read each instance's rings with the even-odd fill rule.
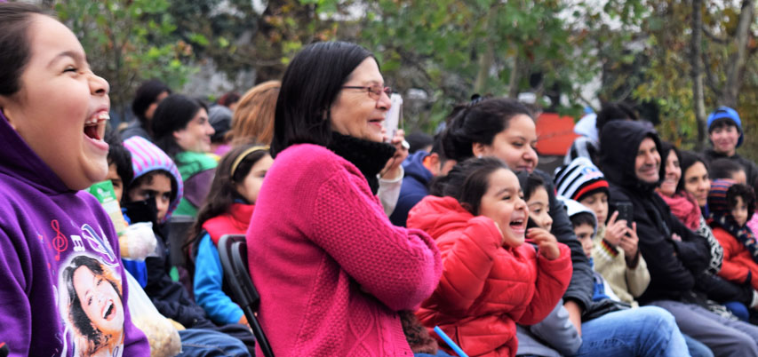
[[[69,190],[2,113],[0,152],[0,343],[11,356],[150,355],[100,202]]]

